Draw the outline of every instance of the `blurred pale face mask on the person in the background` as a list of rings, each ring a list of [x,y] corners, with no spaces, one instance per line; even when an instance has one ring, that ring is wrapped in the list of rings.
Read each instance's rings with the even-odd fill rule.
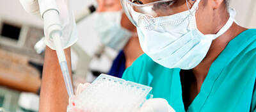
[[[97,12],[96,30],[101,42],[120,51],[127,44],[132,33],[121,26],[122,11]]]

